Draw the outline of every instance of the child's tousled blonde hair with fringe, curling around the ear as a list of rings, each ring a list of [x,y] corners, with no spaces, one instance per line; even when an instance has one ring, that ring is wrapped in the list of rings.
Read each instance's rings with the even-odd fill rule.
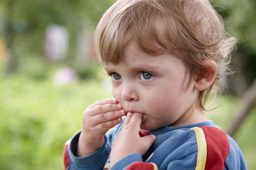
[[[200,70],[207,70],[203,60],[215,62],[217,76],[197,100],[206,110],[205,100],[213,89],[220,89],[220,76],[236,47],[236,38],[226,35],[208,0],[118,0],[97,25],[95,47],[105,64],[120,62],[131,41],[152,55],[176,54],[187,65],[189,84]]]

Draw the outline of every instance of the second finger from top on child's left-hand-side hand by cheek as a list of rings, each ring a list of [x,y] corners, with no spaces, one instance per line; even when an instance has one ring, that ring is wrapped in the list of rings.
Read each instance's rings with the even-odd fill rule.
[[[111,112],[115,110],[121,110],[123,107],[120,103],[97,105],[90,109],[90,115],[98,115],[100,113]]]

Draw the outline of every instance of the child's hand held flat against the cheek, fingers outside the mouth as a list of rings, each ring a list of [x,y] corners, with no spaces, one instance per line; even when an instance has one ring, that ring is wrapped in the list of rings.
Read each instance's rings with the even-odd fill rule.
[[[83,128],[77,145],[77,156],[95,152],[104,144],[104,135],[122,121],[125,111],[118,101],[106,99],[87,107],[83,114]]]

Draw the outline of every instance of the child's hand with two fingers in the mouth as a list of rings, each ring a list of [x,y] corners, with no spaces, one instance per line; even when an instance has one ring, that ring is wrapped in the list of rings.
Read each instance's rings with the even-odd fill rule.
[[[131,153],[144,155],[148,148],[156,141],[154,135],[140,137],[141,113],[128,112],[123,128],[115,138],[111,152],[110,164],[114,165],[118,160]]]

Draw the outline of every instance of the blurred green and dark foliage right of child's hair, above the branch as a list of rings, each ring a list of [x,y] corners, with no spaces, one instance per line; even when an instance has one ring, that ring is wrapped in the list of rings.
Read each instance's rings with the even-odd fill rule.
[[[215,5],[225,21],[228,33],[238,39],[237,53],[233,65],[238,67],[232,80],[235,93],[243,95],[256,77],[256,1],[255,0],[215,0],[223,7]],[[212,2],[214,5],[215,2]],[[239,79],[237,81],[237,79]]]

